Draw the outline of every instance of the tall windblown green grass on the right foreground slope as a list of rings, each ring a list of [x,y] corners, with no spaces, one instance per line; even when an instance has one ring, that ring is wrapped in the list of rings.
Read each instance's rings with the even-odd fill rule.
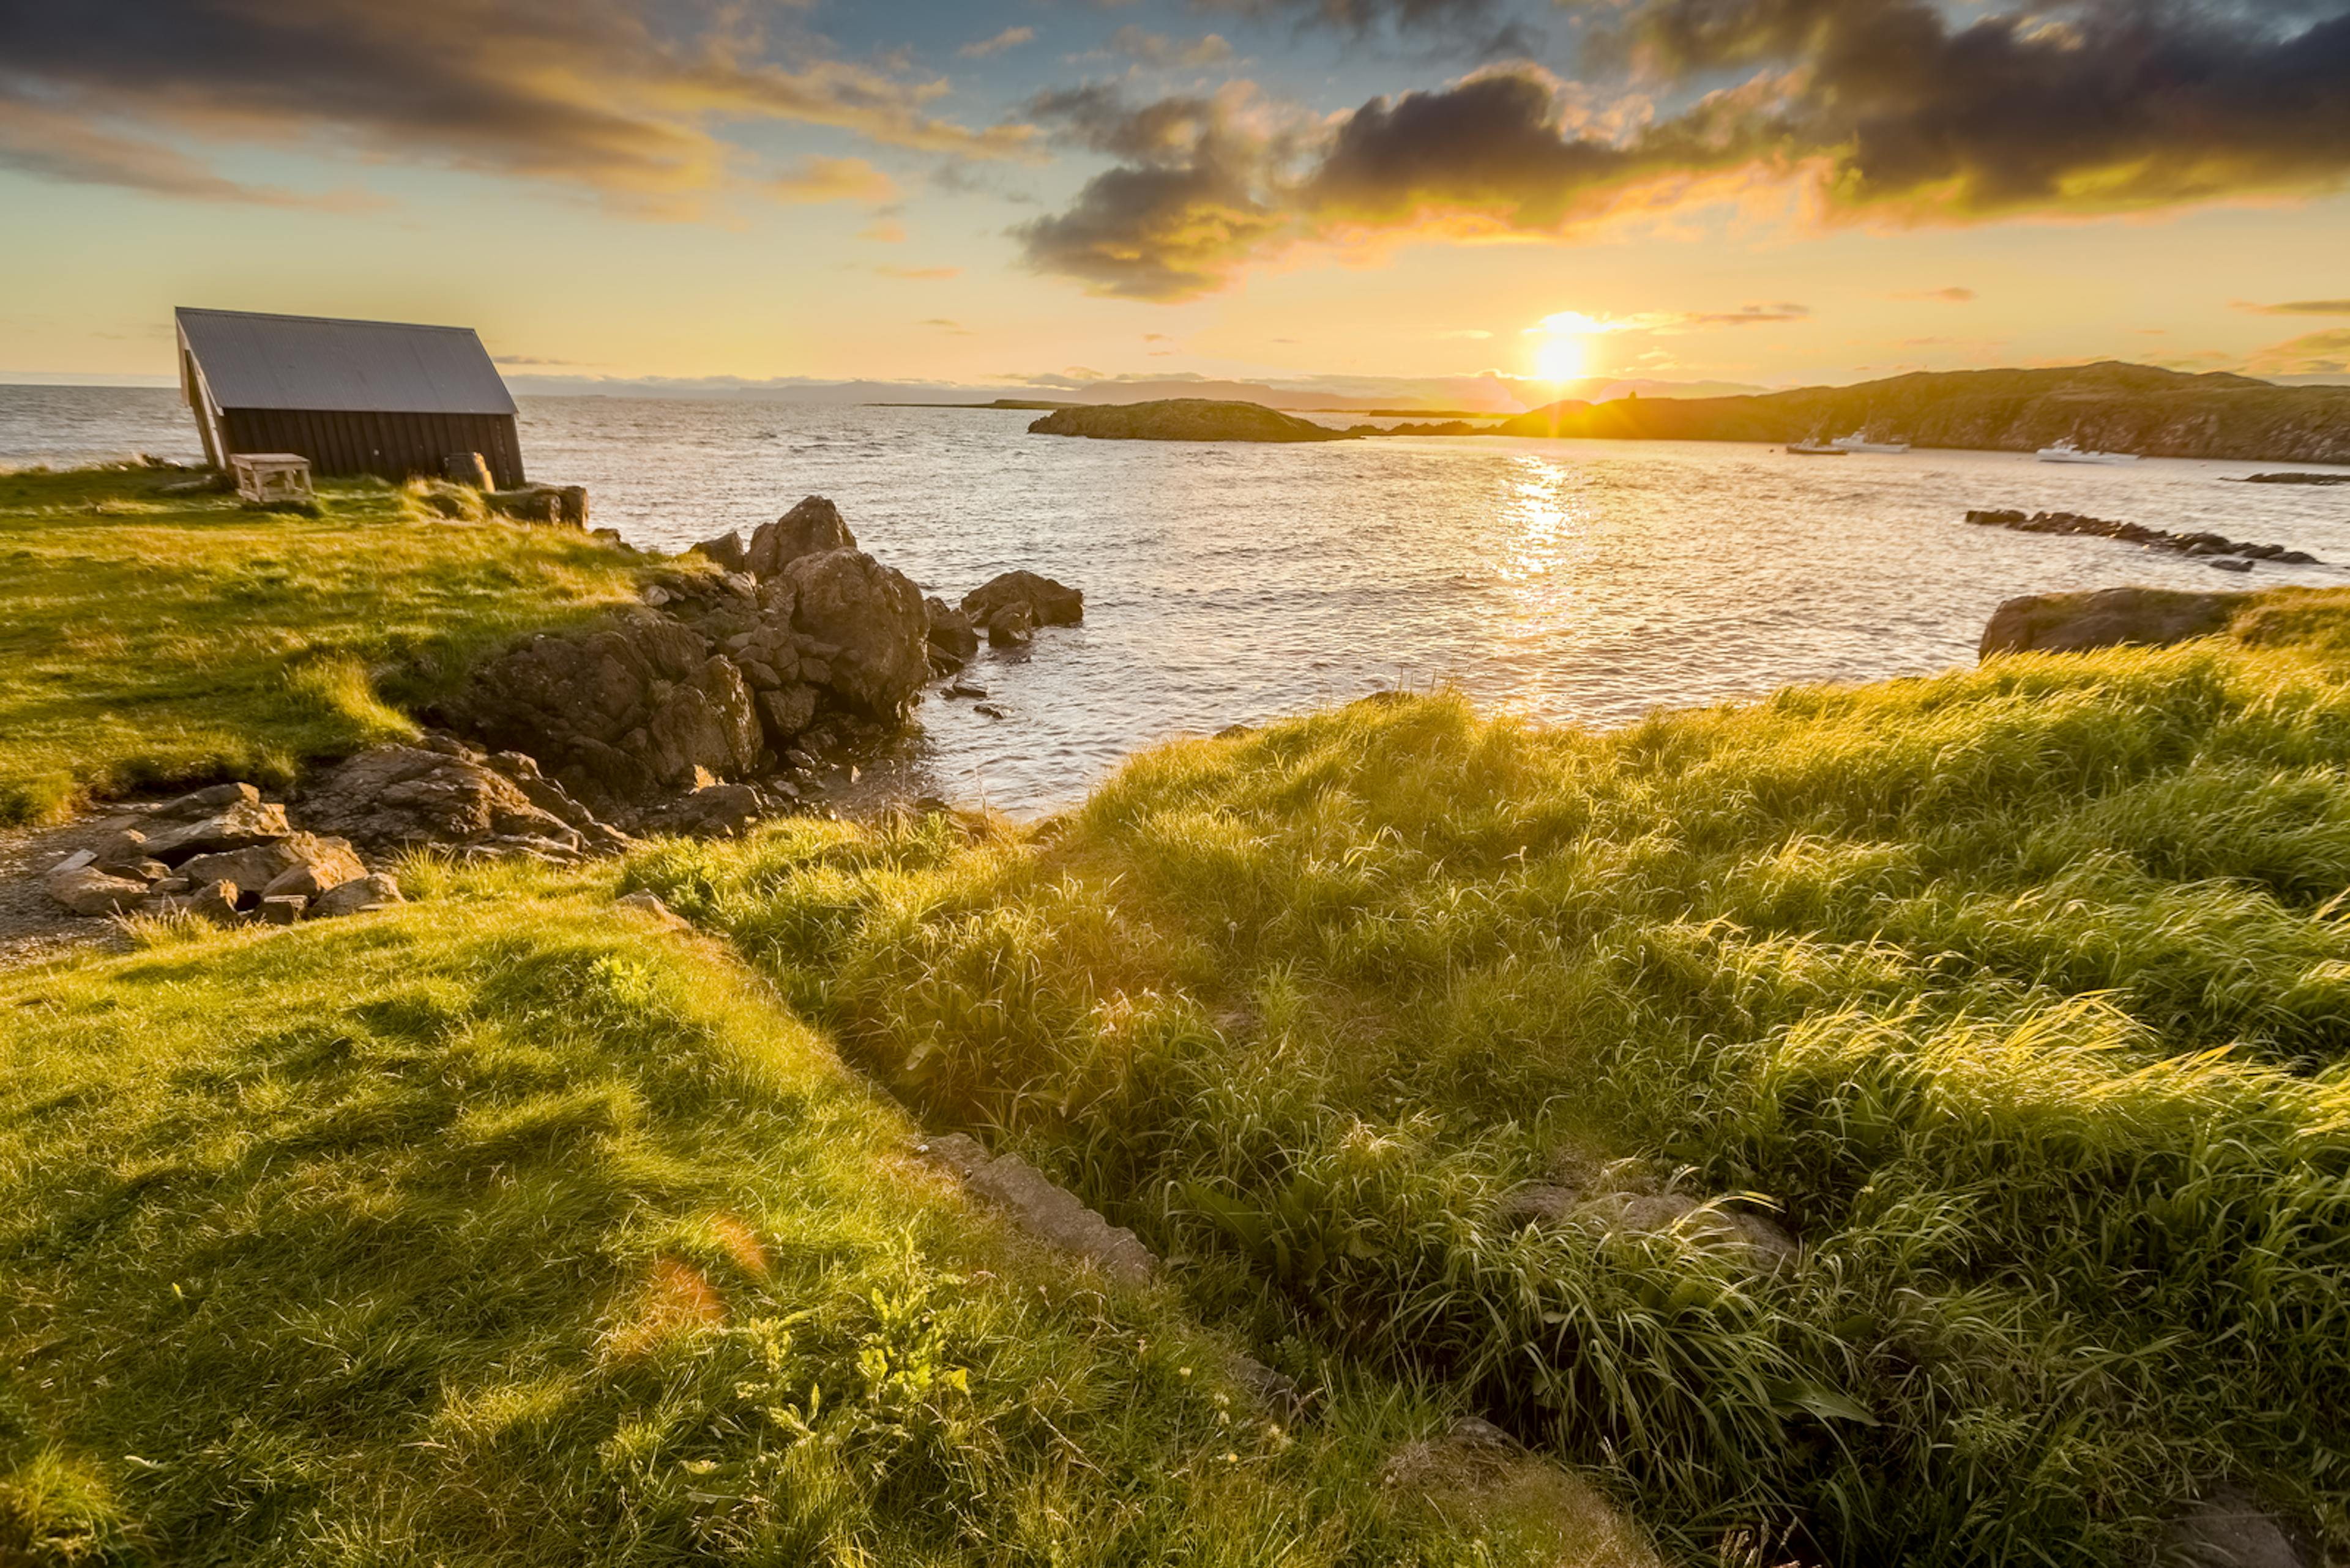
[[[1657,717],[1358,703],[1081,811],[665,846],[938,1121],[1262,1342],[1443,1380],[1683,1552],[2134,1563],[2256,1483],[2350,1547],[2341,607]],[[1530,1229],[1638,1157],[1802,1262]]]

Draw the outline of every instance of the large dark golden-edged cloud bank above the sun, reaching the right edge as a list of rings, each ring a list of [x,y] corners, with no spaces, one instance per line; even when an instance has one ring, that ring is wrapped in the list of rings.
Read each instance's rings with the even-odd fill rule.
[[[1224,9],[1403,21],[1342,2]],[[1177,301],[1307,240],[1570,235],[1732,181],[1800,188],[1828,223],[1974,223],[2350,176],[2350,9],[2054,0],[1953,19],[1929,0],[1636,0],[1603,24],[1596,59],[1643,89],[1600,106],[1525,61],[1281,132],[1253,125],[1269,106],[1250,120],[1196,96],[1041,94],[1029,108],[1055,139],[1121,165],[1020,228],[1025,256]],[[1654,115],[1657,96],[1680,106]]]

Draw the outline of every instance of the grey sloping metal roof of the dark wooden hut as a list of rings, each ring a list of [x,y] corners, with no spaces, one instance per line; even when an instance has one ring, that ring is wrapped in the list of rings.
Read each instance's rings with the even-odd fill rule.
[[[472,327],[336,322],[181,308],[179,331],[221,409],[512,414]]]

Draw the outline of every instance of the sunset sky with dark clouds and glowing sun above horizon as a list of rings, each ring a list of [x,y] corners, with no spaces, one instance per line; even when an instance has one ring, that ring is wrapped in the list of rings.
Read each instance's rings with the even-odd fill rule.
[[[2350,0],[0,0],[0,378],[2350,374]]]

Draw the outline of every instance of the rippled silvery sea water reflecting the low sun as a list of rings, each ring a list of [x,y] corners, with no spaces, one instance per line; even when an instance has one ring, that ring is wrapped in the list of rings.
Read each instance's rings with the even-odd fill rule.
[[[1614,724],[1788,682],[1972,663],[2000,599],[2056,588],[2345,583],[1972,529],[2063,508],[2350,562],[2350,487],[2242,487],[2256,463],[2061,468],[1920,451],[1791,458],[1711,442],[1083,442],[1032,414],[552,397],[524,458],[592,489],[597,524],[682,548],[827,494],[858,541],[959,597],[1032,567],[1086,625],[982,651],[1008,719],[924,701],[912,788],[1036,811],[1175,733],[1394,684]],[[0,388],[0,463],[188,456],[169,393]]]

